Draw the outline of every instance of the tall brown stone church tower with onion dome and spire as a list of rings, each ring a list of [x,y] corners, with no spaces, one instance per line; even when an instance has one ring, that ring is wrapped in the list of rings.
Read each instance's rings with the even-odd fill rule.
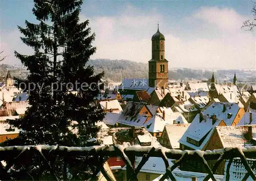
[[[148,84],[150,87],[168,87],[168,61],[165,59],[165,38],[159,32],[152,36],[152,59],[148,61]]]

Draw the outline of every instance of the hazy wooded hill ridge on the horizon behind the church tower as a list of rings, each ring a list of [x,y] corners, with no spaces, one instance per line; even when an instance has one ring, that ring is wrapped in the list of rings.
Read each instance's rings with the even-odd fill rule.
[[[139,63],[129,60],[109,60],[96,59],[89,61],[90,65],[95,67],[95,73],[104,71],[104,79],[121,82],[124,78],[141,78],[148,77],[148,64]],[[169,70],[169,79],[171,80],[208,80],[212,72],[208,70],[194,70],[182,68],[177,70]],[[216,73],[219,79],[224,76]]]

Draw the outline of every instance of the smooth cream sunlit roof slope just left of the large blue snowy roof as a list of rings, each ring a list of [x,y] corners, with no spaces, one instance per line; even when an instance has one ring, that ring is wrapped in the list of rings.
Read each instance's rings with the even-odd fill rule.
[[[173,149],[179,148],[180,143],[178,142],[182,135],[186,132],[189,124],[168,124],[165,125],[165,129],[170,141],[170,145]]]

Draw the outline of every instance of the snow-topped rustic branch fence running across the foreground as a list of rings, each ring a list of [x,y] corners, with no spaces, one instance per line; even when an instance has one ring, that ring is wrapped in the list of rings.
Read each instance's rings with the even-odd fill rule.
[[[67,147],[67,146],[47,146],[47,145],[31,145],[31,146],[6,146],[0,147],[0,161],[4,160],[13,160],[13,158],[17,159],[22,156],[24,152],[28,152],[30,150],[36,151],[48,164],[49,170],[52,176],[58,180],[54,170],[51,167],[51,164],[46,159],[46,154],[51,155],[59,155],[59,156],[67,156],[68,154],[72,154],[72,156],[85,156],[85,155],[104,155],[109,157],[121,157],[126,164],[126,174],[127,180],[138,180],[137,174],[139,173],[142,166],[146,163],[148,158],[150,157],[161,157],[164,161],[166,167],[166,173],[160,178],[164,180],[165,178],[170,178],[172,180],[176,180],[172,174],[172,171],[178,167],[185,160],[202,160],[204,166],[208,170],[208,175],[204,178],[204,180],[208,180],[211,178],[212,180],[216,180],[214,177],[214,173],[217,170],[218,166],[223,160],[229,160],[227,165],[227,174],[226,180],[229,180],[229,169],[232,163],[233,158],[241,158],[242,164],[244,165],[247,173],[245,174],[242,180],[246,180],[249,176],[252,177],[253,180],[256,180],[256,176],[253,173],[252,169],[256,167],[254,163],[251,167],[246,161],[246,158],[256,158],[256,146],[250,147],[227,147],[224,149],[217,150],[175,150],[175,149],[167,149],[165,147],[153,147],[153,146],[129,146],[129,145],[113,145],[113,146],[90,146],[90,147]],[[132,157],[142,157],[142,161],[139,163],[137,168],[134,169]],[[131,161],[132,159],[132,161]],[[168,159],[175,159],[177,162],[173,166],[169,166]],[[210,169],[207,164],[208,160],[217,160],[214,167]],[[2,174],[7,174],[8,170],[12,167],[12,162],[8,165],[3,166],[0,164],[0,171]],[[100,171],[105,176],[107,180],[112,180],[109,174],[104,170],[103,165],[100,166]],[[1,178],[0,178],[1,179]]]

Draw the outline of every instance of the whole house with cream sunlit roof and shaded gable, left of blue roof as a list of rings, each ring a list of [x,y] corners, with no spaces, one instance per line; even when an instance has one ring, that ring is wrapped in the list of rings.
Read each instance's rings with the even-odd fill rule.
[[[178,142],[182,135],[186,132],[189,124],[168,124],[164,126],[161,137],[158,138],[159,143],[169,149],[179,149]]]

